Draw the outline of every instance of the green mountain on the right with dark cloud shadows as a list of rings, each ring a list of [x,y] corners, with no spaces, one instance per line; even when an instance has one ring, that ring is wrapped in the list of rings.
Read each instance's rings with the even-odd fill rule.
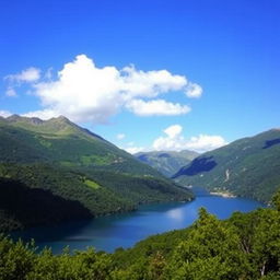
[[[174,176],[184,185],[269,202],[280,186],[280,129],[234,141],[207,152]]]

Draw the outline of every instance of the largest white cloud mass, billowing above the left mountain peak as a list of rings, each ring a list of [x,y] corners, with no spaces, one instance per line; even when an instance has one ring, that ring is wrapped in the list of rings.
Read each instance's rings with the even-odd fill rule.
[[[65,115],[78,122],[104,124],[121,109],[138,116],[190,112],[187,105],[158,97],[170,92],[186,92],[191,86],[186,77],[167,70],[142,71],[133,66],[120,70],[113,66],[98,68],[92,59],[80,55],[66,63],[57,75],[51,74],[50,69],[39,78],[40,71],[36,68],[7,77],[10,82],[28,82],[33,94],[40,100],[42,109],[28,112],[26,116]]]

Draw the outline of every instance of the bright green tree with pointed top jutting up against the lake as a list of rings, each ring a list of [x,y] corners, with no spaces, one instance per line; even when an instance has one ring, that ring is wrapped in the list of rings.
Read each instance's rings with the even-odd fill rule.
[[[166,273],[168,279],[238,279],[246,268],[234,226],[200,209],[188,238],[174,250]]]

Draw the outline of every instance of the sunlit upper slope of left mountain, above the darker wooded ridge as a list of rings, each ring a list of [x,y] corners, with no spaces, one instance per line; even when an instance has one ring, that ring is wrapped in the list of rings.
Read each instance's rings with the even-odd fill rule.
[[[0,161],[56,162],[66,167],[160,175],[129,153],[62,116],[43,121],[13,115],[0,120]]]

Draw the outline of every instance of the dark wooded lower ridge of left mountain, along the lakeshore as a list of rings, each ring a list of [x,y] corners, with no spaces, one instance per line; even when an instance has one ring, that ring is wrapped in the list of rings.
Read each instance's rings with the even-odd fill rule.
[[[88,172],[44,163],[0,163],[0,232],[191,197],[188,190],[152,176]]]

